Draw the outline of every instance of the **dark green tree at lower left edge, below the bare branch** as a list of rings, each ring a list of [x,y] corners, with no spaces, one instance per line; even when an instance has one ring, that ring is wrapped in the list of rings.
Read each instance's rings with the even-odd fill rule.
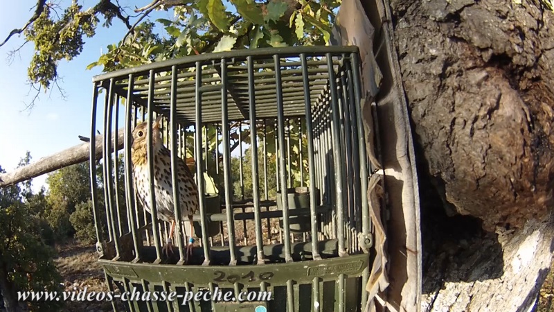
[[[30,154],[21,159],[28,164]],[[0,167],[0,172],[5,172]],[[60,311],[62,302],[17,302],[17,291],[60,291],[61,277],[47,245],[42,214],[44,189],[33,194],[31,180],[0,189],[0,291],[8,311]]]

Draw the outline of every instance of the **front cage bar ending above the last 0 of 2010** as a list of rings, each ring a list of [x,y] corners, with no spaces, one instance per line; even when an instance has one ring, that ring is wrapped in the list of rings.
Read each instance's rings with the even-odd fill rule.
[[[264,250],[262,241],[262,220],[260,218],[260,187],[258,175],[258,134],[256,132],[256,95],[254,90],[254,63],[251,56],[248,61],[248,93],[249,93],[249,111],[250,111],[250,150],[252,162],[252,194],[254,204],[254,219],[256,225],[256,259],[257,264],[264,264]]]

